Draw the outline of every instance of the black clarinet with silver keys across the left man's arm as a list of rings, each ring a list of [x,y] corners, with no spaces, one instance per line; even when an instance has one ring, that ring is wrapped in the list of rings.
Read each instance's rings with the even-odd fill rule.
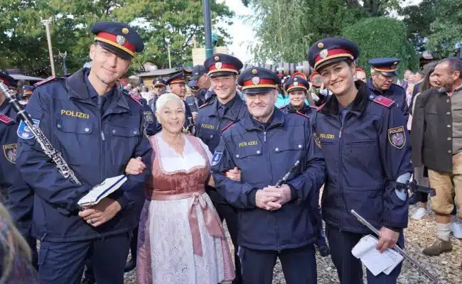
[[[81,182],[77,179],[72,169],[69,168],[68,163],[66,163],[66,161],[64,160],[63,155],[60,152],[56,151],[55,148],[53,148],[53,145],[51,145],[50,141],[48,140],[48,138],[46,138],[45,134],[43,134],[38,125],[33,123],[27,111],[23,109],[21,104],[19,104],[16,100],[16,97],[14,96],[13,92],[11,92],[11,89],[9,89],[9,87],[7,87],[6,84],[4,84],[3,82],[0,82],[0,91],[5,94],[6,98],[8,99],[9,103],[14,108],[18,116],[21,118],[22,121],[24,121],[28,129],[30,129],[31,133],[34,136],[36,136],[36,141],[40,144],[43,153],[48,155],[48,157],[50,157],[53,160],[60,174],[63,175],[64,178],[68,178],[75,184],[81,185]]]

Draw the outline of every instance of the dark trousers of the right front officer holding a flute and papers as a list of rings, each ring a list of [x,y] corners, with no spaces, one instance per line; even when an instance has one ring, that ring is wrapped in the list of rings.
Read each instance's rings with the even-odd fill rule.
[[[338,278],[342,284],[362,284],[362,263],[351,253],[353,247],[365,236],[364,234],[340,231],[338,228],[326,225],[326,236],[331,248],[331,258],[337,268]],[[404,236],[399,234],[398,244],[404,247]],[[402,263],[394,268],[390,275],[380,273],[374,276],[367,270],[368,284],[394,284],[401,272]]]

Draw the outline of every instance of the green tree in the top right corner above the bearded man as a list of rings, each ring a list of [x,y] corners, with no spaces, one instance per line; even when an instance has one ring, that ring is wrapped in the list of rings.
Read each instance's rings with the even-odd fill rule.
[[[461,48],[461,11],[460,0],[438,0],[438,8],[435,9],[436,20],[431,23],[431,33],[426,43],[426,50],[436,58],[454,55],[456,48]]]

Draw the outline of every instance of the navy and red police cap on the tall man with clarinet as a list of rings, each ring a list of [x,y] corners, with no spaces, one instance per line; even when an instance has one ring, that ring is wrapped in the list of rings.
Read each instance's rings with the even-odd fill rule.
[[[120,58],[134,58],[135,53],[141,53],[144,49],[143,40],[138,33],[125,23],[99,22],[92,26],[91,31],[96,35],[96,42]]]

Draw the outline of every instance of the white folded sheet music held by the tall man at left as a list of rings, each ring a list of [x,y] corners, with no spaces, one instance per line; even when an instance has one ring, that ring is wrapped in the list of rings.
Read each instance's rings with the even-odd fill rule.
[[[118,190],[126,181],[126,175],[117,175],[117,177],[107,178],[100,185],[95,185],[87,195],[80,198],[78,204],[80,207],[95,205],[104,197]]]

